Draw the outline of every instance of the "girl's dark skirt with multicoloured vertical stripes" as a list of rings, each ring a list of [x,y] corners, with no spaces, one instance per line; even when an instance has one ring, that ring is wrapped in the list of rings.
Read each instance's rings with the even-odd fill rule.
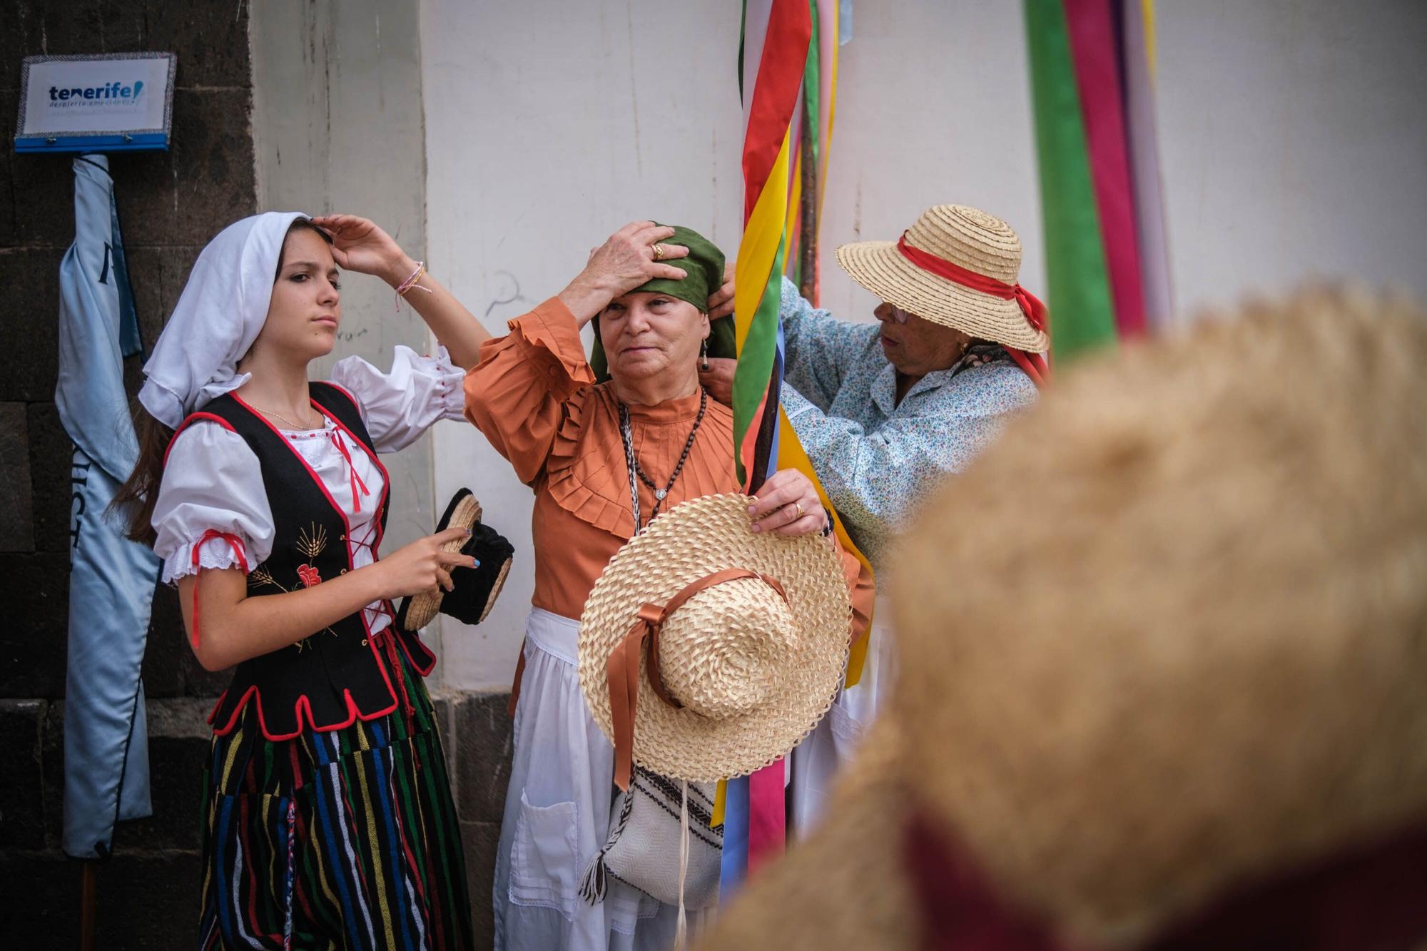
[[[204,770],[200,948],[469,948],[461,827],[431,700],[265,740],[250,703]]]

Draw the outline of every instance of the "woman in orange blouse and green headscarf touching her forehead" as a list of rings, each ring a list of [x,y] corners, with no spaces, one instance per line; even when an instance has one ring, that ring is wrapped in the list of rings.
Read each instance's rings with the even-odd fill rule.
[[[497,947],[655,948],[674,937],[676,910],[624,882],[598,904],[578,894],[606,840],[614,778],[609,741],[579,690],[578,618],[609,558],[642,527],[682,501],[736,490],[732,413],[698,383],[708,298],[722,274],[723,256],[699,234],[628,224],[559,296],[488,341],[467,376],[468,418],[535,490],[535,593],[512,691]],[[595,317],[611,376],[602,384],[579,340]],[[745,518],[752,533],[828,530],[796,471],[769,478]]]

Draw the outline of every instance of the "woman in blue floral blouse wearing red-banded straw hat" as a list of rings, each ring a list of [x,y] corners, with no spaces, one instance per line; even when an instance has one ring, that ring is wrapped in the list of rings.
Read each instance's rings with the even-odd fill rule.
[[[1045,307],[1016,283],[1020,240],[985,211],[936,206],[896,241],[843,244],[836,254],[880,298],[878,323],[836,320],[783,278],[782,404],[829,501],[885,580],[889,544],[915,504],[1035,401],[1050,338]],[[725,390],[732,361],[712,374]],[[880,624],[870,637],[862,680],[793,754],[801,827],[821,814],[838,764],[885,693],[889,638]]]

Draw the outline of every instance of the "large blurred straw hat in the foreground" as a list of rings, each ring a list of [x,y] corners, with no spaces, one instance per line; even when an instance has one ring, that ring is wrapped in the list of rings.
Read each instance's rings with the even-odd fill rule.
[[[1424,361],[1421,308],[1314,291],[1066,374],[909,520],[890,703],[701,947],[959,947],[958,915],[922,931],[910,814],[1103,951],[1420,850]],[[1373,897],[1427,908],[1413,867]]]

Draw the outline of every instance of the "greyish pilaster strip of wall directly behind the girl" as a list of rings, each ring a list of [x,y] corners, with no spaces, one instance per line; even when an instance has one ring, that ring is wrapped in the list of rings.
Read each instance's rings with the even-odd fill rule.
[[[418,10],[381,0],[255,0],[253,149],[263,211],[350,211],[374,218],[412,257],[425,250]],[[360,356],[387,370],[392,350],[418,353],[427,328],[408,307],[394,310],[375,277],[342,281],[337,348],[317,361]],[[384,458],[391,474],[385,551],[430,534],[431,437]],[[440,644],[434,644],[440,651]]]

